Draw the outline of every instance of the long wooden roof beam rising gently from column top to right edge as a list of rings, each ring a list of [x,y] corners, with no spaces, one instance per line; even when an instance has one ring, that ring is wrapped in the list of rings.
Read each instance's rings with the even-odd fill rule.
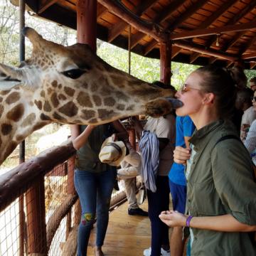
[[[256,21],[237,24],[237,25],[228,25],[228,26],[223,26],[218,28],[195,29],[193,31],[175,33],[170,36],[170,39],[180,40],[180,39],[194,38],[199,36],[210,36],[217,33],[247,31],[253,28],[256,28]]]

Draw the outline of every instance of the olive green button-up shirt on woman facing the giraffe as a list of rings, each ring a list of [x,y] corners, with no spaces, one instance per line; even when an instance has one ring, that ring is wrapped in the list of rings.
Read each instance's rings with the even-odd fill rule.
[[[241,223],[256,225],[256,183],[250,154],[222,120],[196,131],[190,139],[196,154],[187,183],[187,210],[193,216],[231,214]],[[254,256],[249,233],[192,228],[191,255]],[[251,234],[252,235],[252,234]]]

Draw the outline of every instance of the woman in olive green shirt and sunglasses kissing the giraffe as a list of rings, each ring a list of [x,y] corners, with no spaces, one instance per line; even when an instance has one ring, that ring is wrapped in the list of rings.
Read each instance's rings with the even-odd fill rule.
[[[256,183],[252,161],[230,124],[236,85],[232,71],[198,68],[176,93],[196,126],[191,150],[174,151],[174,161],[186,164],[188,215],[164,211],[159,218],[169,226],[190,228],[191,255],[256,255]],[[231,135],[229,139],[223,139]],[[188,161],[187,161],[188,160]],[[253,234],[254,235],[254,234]],[[189,252],[188,252],[189,253]]]

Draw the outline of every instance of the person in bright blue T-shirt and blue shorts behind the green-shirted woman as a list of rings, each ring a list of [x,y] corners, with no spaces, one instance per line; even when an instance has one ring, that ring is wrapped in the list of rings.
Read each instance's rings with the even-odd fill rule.
[[[176,117],[176,146],[183,146],[189,149],[191,135],[195,129],[190,117]],[[169,186],[173,201],[173,208],[179,213],[185,213],[186,208],[186,178],[184,174],[185,166],[183,164],[174,164],[169,172]],[[171,233],[171,255],[183,255],[184,240],[182,227],[174,227]]]

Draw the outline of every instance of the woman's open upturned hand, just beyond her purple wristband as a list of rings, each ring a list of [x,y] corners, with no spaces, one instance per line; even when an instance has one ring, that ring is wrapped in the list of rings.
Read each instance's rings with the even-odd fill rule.
[[[159,215],[160,220],[169,227],[186,226],[186,215],[178,213],[177,210],[164,210]]]

